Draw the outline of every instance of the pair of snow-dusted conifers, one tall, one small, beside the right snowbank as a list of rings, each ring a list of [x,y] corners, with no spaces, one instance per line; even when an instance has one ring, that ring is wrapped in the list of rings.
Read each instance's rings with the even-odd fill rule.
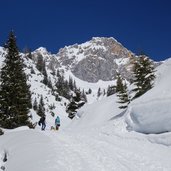
[[[115,92],[119,98],[118,103],[121,103],[119,108],[126,108],[131,100],[140,97],[153,87],[154,72],[152,61],[147,56],[140,55],[134,62],[132,90],[128,91],[126,81],[117,75]],[[130,92],[133,95],[130,96]]]

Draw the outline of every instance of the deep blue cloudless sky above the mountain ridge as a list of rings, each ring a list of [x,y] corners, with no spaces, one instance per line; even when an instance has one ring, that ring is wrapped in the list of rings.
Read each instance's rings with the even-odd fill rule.
[[[0,45],[15,31],[20,50],[57,53],[92,37],[114,37],[159,61],[171,57],[170,0],[3,0]]]

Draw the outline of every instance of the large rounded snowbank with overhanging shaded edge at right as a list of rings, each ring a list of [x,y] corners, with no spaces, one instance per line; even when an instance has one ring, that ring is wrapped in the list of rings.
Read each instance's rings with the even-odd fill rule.
[[[126,121],[143,133],[171,131],[171,58],[157,68],[154,88],[131,103]]]

